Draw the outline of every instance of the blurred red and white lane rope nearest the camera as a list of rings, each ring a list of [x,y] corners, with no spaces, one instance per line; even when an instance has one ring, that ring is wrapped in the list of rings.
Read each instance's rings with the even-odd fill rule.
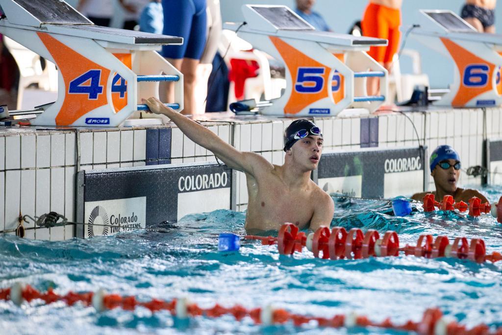
[[[171,301],[152,299],[151,301],[140,302],[136,300],[134,296],[122,297],[118,294],[105,294],[102,290],[85,293],[68,292],[66,295],[59,295],[52,289],[42,293],[30,285],[22,285],[19,283],[11,288],[0,289],[0,300],[11,300],[17,305],[21,305],[24,301],[30,302],[36,299],[40,299],[46,304],[63,301],[69,306],[74,305],[76,302],[81,302],[85,306],[92,305],[98,312],[114,308],[135,310],[138,306],[143,306],[152,312],[167,310],[171,315],[178,318],[197,316],[217,318],[222,315],[233,315],[237,321],[244,317],[250,317],[255,323],[264,325],[292,322],[295,326],[301,326],[302,324],[316,321],[320,327],[340,328],[372,326],[386,329],[415,331],[423,335],[502,334],[502,327],[490,331],[490,327],[484,323],[468,329],[455,320],[444,317],[443,313],[438,308],[427,309],[419,322],[408,320],[403,324],[395,324],[390,318],[386,318],[382,322],[373,322],[367,316],[357,315],[356,313],[347,315],[337,314],[329,318],[293,314],[285,309],[276,309],[270,305],[264,308],[258,307],[247,309],[241,305],[224,307],[215,304],[211,308],[202,308],[196,303],[190,303],[187,299],[173,299]]]

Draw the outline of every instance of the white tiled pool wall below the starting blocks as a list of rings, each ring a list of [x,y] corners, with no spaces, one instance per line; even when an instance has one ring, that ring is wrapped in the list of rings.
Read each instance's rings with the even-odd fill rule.
[[[413,112],[406,116],[415,124],[420,143],[429,147],[429,153],[430,148],[450,144],[459,152],[463,166],[468,167],[481,165],[485,138],[502,138],[501,114],[502,108],[491,108]],[[417,135],[406,116],[393,113],[314,121],[323,131],[325,152],[418,146]],[[282,164],[283,132],[292,121],[278,118],[202,124],[238,150],[254,151],[273,164]],[[4,234],[15,234],[20,213],[41,215],[56,211],[73,220],[78,169],[214,161],[214,155],[171,125],[78,131],[7,129],[0,131],[0,157],[5,157],[0,158],[0,233]],[[460,183],[479,184],[480,178],[462,172]],[[244,210],[247,191],[241,172],[237,172],[236,187],[236,208]],[[434,188],[432,181],[429,188]],[[24,226],[26,237],[31,239],[73,237],[73,226],[35,229],[32,222]]]

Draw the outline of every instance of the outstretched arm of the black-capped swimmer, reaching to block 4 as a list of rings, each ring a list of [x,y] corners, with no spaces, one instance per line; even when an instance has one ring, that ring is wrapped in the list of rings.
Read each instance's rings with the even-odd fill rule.
[[[272,164],[262,156],[252,152],[238,151],[206,127],[165,106],[159,99],[151,97],[145,102],[152,113],[162,114],[171,119],[190,140],[211,151],[228,167],[253,176],[256,175],[255,171],[261,170],[260,168],[265,166],[273,168]]]

